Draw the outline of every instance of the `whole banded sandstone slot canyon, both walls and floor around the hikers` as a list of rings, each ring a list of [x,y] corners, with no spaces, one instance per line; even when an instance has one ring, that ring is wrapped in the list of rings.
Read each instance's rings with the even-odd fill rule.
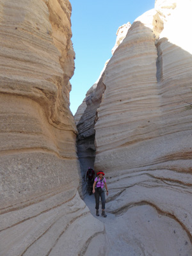
[[[154,0],[122,24],[73,116],[70,1],[0,0],[0,256],[192,255],[191,12]]]

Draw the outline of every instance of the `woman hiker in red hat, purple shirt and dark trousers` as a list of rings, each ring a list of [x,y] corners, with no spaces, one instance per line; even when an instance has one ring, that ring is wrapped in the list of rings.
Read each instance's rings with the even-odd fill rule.
[[[95,194],[95,209],[96,209],[96,216],[99,216],[99,196],[101,199],[101,204],[102,204],[102,214],[101,216],[107,217],[106,212],[105,212],[105,205],[106,205],[106,196],[104,192],[104,187],[107,190],[107,196],[109,195],[108,192],[108,186],[106,184],[106,178],[103,176],[105,175],[104,172],[98,172],[97,173],[98,177],[95,178],[94,183],[93,183],[93,194]],[[95,188],[96,186],[96,188]]]

